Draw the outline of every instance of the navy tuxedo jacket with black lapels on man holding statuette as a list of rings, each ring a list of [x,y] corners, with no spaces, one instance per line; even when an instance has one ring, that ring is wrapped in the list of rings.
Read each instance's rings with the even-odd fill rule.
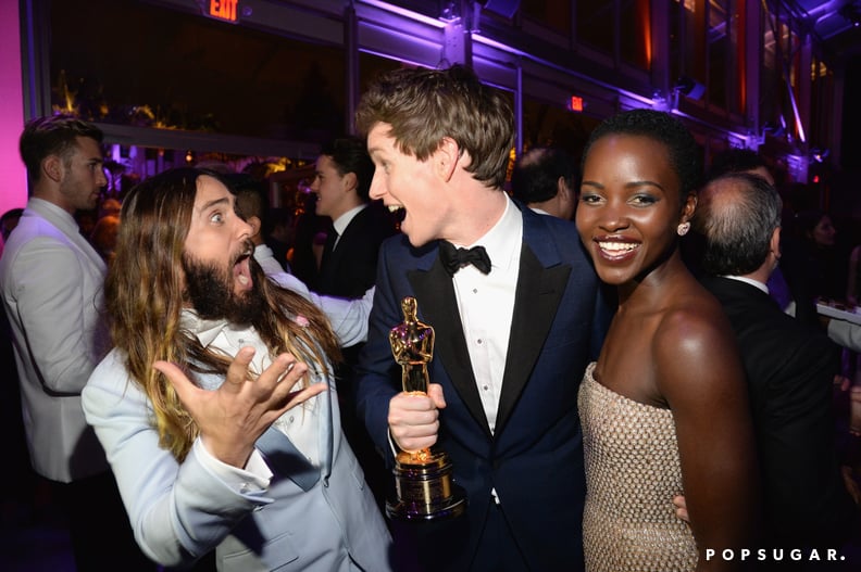
[[[401,369],[388,334],[403,321],[401,300],[414,296],[419,319],[435,330],[428,370],[447,404],[439,411],[438,445],[448,453],[469,503],[465,516],[451,522],[451,533],[441,533],[439,552],[452,558],[446,570],[485,568],[473,558],[492,490],[533,570],[583,567],[577,389],[586,365],[598,355],[611,312],[574,225],[517,206],[523,247],[494,434],[436,242],[413,249],[399,236],[383,244],[369,341],[357,366],[360,418],[391,465],[387,415],[389,399],[401,391]],[[435,567],[442,569],[428,570]]]

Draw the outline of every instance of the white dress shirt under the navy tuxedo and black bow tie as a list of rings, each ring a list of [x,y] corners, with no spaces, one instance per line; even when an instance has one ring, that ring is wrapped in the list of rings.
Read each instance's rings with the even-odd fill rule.
[[[490,257],[490,272],[484,275],[470,265],[458,270],[452,280],[470,361],[492,433],[506,371],[523,245],[523,217],[510,199],[502,217],[484,237],[474,244],[456,244],[460,247],[478,245],[484,246]]]

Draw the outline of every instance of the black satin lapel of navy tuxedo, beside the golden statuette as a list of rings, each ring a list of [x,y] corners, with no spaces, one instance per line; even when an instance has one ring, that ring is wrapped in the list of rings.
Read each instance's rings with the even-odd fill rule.
[[[434,359],[446,370],[451,384],[475,421],[490,436],[466,349],[466,340],[463,338],[463,325],[451,277],[442,268],[439,258],[436,258],[428,271],[412,270],[408,272],[408,278],[419,303],[419,318],[434,328]],[[430,381],[434,381],[433,377]]]

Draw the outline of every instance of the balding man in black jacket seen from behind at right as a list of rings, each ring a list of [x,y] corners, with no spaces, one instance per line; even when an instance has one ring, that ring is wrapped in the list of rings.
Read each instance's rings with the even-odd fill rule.
[[[756,175],[720,176],[700,192],[694,226],[706,245],[701,280],[729,317],[748,377],[764,545],[839,548],[856,510],[835,448],[839,349],[769,296],[765,283],[781,257],[779,195]]]

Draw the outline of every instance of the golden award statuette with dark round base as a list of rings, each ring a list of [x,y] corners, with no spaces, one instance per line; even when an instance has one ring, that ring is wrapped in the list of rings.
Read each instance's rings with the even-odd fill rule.
[[[427,393],[427,364],[434,354],[434,329],[419,321],[414,297],[401,301],[403,323],[389,331],[395,360],[400,364],[403,391]],[[466,508],[463,490],[452,482],[451,462],[437,445],[401,450],[395,459],[397,499],[386,503],[386,513],[396,520],[437,520],[457,517]]]

